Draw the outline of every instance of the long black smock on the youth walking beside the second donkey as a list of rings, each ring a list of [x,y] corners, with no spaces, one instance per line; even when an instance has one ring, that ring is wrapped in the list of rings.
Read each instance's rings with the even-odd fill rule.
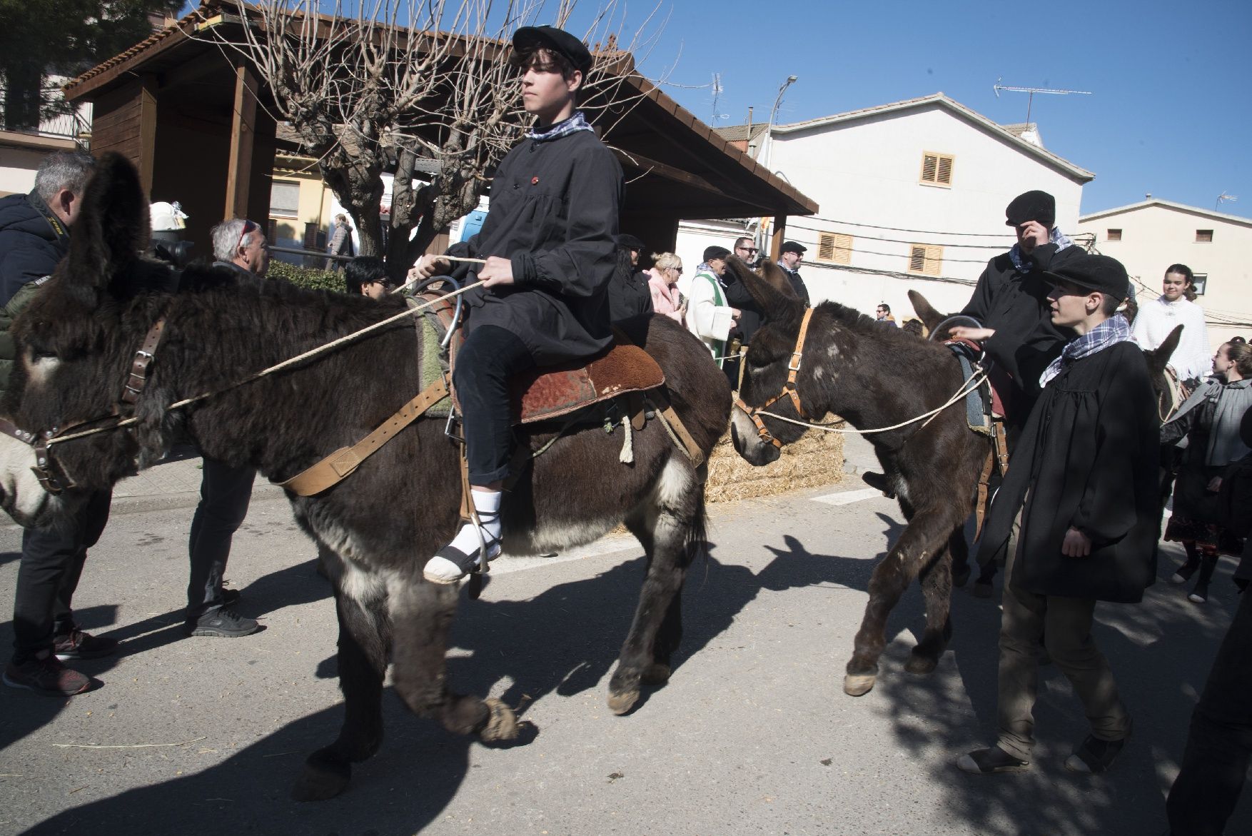
[[[1138,345],[1116,343],[1072,362],[1043,389],[978,551],[1005,546],[1022,511],[1012,583],[1043,596],[1133,603],[1157,574],[1161,422]],[[1024,507],[1023,507],[1024,503]],[[1092,539],[1065,557],[1065,532]]]

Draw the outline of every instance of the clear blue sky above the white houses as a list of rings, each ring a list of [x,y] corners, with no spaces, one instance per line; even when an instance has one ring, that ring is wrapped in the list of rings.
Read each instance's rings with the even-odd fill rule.
[[[585,0],[586,1],[586,0]],[[1096,173],[1083,212],[1146,193],[1252,217],[1252,3],[796,3],[674,0],[641,69],[675,85],[721,74],[716,124],[769,118],[796,75],[780,123],[943,91],[997,123],[1025,120],[1013,86],[1090,90],[1035,95],[1030,120],[1049,150]],[[632,6],[627,20],[641,18]],[[711,88],[666,86],[709,121]],[[803,183],[795,184],[801,191]]]

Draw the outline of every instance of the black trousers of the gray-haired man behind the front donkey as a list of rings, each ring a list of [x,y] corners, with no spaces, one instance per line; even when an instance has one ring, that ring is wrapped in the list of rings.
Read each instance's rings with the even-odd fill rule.
[[[230,539],[248,516],[252,482],[257,471],[229,467],[204,457],[200,477],[200,504],[192,517],[192,536],[187,548],[192,557],[192,577],[187,583],[187,617],[199,618],[222,606],[222,578],[230,557]]]

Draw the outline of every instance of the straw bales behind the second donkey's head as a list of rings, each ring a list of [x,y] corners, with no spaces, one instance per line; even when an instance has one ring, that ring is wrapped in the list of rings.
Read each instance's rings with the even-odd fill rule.
[[[709,457],[709,502],[769,497],[798,488],[834,484],[844,478],[844,437],[810,429],[782,447],[779,461],[752,467],[735,452],[727,432]]]

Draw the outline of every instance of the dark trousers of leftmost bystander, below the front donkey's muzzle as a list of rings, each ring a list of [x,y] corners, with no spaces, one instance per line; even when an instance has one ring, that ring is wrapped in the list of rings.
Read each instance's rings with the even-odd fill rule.
[[[59,528],[28,528],[21,534],[21,563],[13,604],[14,663],[45,650],[54,636],[74,628],[71,602],[86,549],[95,546],[109,522],[113,491],[100,491]]]

